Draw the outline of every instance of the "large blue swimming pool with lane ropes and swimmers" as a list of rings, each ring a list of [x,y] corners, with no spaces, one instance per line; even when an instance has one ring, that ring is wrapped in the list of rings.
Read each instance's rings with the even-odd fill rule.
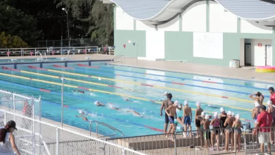
[[[60,77],[64,76],[64,104],[67,105],[64,108],[64,123],[89,130],[89,123],[76,118],[78,109],[85,110],[89,120],[108,123],[125,136],[161,133],[164,118],[159,116],[159,109],[160,100],[166,98],[164,92],[172,93],[173,101],[183,103],[189,100],[193,110],[195,102],[200,101],[207,114],[219,112],[219,109],[208,105],[223,106],[226,111],[240,114],[243,122],[250,122],[254,101],[248,95],[263,92],[266,102],[269,99],[267,89],[272,86],[271,83],[129,68],[105,62],[93,62],[91,67],[87,65],[69,63],[67,68],[63,68],[59,64],[43,64],[44,70],[39,69],[37,64],[18,65],[17,71],[1,69],[0,85],[2,89],[12,92],[35,97],[41,95],[42,116],[60,122]],[[5,67],[9,68],[9,65]],[[85,91],[85,94],[75,93],[74,90]],[[123,96],[129,97],[132,102],[124,101]],[[121,110],[111,110],[110,106],[96,107],[95,101],[112,103]],[[127,112],[129,110],[142,116]],[[182,115],[182,112],[178,114]],[[192,128],[195,129],[194,119]],[[100,134],[110,133],[111,130],[100,127]]]

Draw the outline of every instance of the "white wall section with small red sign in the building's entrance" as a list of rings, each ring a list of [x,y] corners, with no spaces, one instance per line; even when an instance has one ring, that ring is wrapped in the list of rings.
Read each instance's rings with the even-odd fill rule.
[[[258,43],[262,47],[258,47]],[[271,39],[251,39],[251,65],[265,66],[265,45],[272,45]]]

